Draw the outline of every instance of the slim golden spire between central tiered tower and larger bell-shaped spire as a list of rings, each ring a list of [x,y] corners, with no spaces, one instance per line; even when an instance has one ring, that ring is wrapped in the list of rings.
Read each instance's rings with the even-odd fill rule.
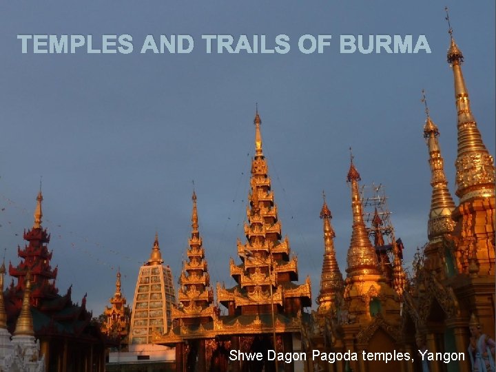
[[[331,226],[331,211],[327,207],[324,197],[324,205],[320,211],[320,218],[324,220],[324,262],[322,263],[322,276],[320,279],[320,294],[317,298],[319,306],[334,300],[335,293],[341,293],[344,287],[342,274],[335,258],[334,230]]]

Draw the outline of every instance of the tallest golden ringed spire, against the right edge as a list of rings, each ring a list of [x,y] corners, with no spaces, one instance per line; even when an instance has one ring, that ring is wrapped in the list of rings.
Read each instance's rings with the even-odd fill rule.
[[[490,156],[482,142],[482,136],[477,128],[477,122],[472,114],[468,90],[462,74],[464,56],[453,39],[453,29],[449,23],[448,33],[451,44],[447,60],[453,68],[455,80],[455,103],[458,113],[458,154],[456,166],[456,194],[460,202],[473,197],[495,196],[495,167],[493,156]]]

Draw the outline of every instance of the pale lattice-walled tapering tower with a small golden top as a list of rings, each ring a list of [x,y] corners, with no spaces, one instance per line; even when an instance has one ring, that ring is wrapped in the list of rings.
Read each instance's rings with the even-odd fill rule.
[[[145,265],[140,267],[136,282],[130,328],[130,351],[147,349],[145,345],[152,344],[153,334],[167,332],[172,324],[172,307],[176,303],[176,296],[172,271],[168,265],[163,265],[163,262],[158,234],[156,234],[152,254]]]

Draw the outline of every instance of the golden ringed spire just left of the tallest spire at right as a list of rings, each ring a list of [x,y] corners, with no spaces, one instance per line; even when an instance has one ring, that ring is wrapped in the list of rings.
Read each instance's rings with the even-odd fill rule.
[[[451,213],[455,209],[455,203],[448,190],[448,181],[444,174],[444,160],[441,156],[439,145],[439,130],[429,116],[427,100],[422,90],[422,102],[425,103],[426,123],[424,125],[424,138],[429,153],[429,165],[431,166],[431,186],[433,188],[431,197],[431,211],[428,220],[428,238],[435,240],[446,233],[453,231],[453,220]]]

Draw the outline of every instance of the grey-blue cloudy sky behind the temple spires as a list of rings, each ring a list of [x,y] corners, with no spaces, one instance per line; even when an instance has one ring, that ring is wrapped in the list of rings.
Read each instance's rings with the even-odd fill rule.
[[[430,171],[422,138],[427,92],[453,191],[456,112],[444,5],[437,1],[3,1],[0,3],[0,248],[16,264],[43,177],[43,226],[61,293],[88,293],[98,315],[116,269],[132,301],[158,231],[180,272],[190,233],[192,180],[211,282],[229,278],[254,154],[255,105],[283,234],[300,280],[318,294],[322,189],[342,271],[351,236],[349,147],[362,183],[382,184],[411,261],[426,242]],[[495,153],[495,3],[446,1],[475,117]],[[129,34],[128,54],[22,53],[19,34]],[[189,34],[187,54],[141,54],[147,34]],[[286,54],[207,54],[203,34],[286,34]],[[304,54],[304,34],[331,34]],[[431,53],[340,53],[340,35],[424,34]],[[214,44],[216,45],[216,44]],[[307,44],[309,45],[309,42]],[[43,46],[41,46],[43,49]],[[455,198],[455,200],[457,200]],[[10,282],[7,278],[6,282]]]

